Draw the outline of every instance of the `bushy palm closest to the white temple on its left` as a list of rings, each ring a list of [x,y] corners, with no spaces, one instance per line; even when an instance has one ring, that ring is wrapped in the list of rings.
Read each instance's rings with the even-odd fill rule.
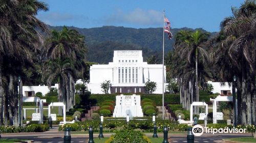
[[[65,60],[69,59],[70,63],[73,65],[72,69],[62,73],[66,74],[66,78],[60,78],[58,81],[59,102],[65,100],[67,110],[73,108],[75,104],[74,81],[78,76],[83,75],[84,67],[86,67],[85,54],[87,49],[84,43],[84,37],[75,30],[69,30],[67,27],[63,27],[60,32],[56,30],[52,31],[51,35],[46,39],[45,47],[44,53],[49,60],[58,59],[59,62],[65,62]],[[51,70],[45,70],[45,75],[48,75],[48,72],[51,73]],[[60,77],[58,75],[49,76],[47,82],[48,86],[51,86],[53,81],[51,78],[54,76]],[[62,75],[62,77],[64,76]],[[67,98],[63,95],[67,96]]]

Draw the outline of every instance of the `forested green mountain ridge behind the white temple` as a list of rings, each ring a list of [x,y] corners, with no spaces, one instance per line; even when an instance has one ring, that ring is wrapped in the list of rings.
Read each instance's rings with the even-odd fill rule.
[[[50,29],[61,30],[62,27],[52,27]],[[81,35],[86,37],[88,45],[87,60],[90,62],[108,63],[113,61],[114,50],[142,50],[144,61],[147,57],[156,55],[162,58],[163,29],[162,28],[124,28],[114,26],[103,26],[100,28],[76,28]],[[193,30],[189,28],[172,29],[173,35],[180,30]],[[203,29],[200,29],[205,31]],[[215,34],[215,33],[212,33]],[[168,40],[167,34],[164,36],[164,53],[173,49],[175,36]]]

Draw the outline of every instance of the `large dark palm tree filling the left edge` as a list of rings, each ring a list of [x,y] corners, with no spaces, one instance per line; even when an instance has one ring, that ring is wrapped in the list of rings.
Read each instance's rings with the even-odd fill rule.
[[[42,41],[36,28],[47,31],[47,25],[35,17],[39,10],[46,11],[48,8],[44,3],[38,2],[37,0],[3,0],[0,2],[0,54],[4,57],[0,59],[0,66],[2,66],[2,68],[0,68],[2,79],[0,78],[0,80],[2,80],[2,83],[4,75],[3,64],[6,64],[6,62],[17,61],[19,67],[33,63],[31,52],[37,51],[38,44]],[[8,63],[6,67],[13,68],[11,66],[12,63],[13,62]],[[4,88],[3,84],[0,84],[0,89],[4,88],[5,96],[9,93],[9,95],[12,96],[9,98],[16,99],[17,86],[13,85],[13,81],[17,79],[17,75],[8,74],[4,76],[8,79],[9,88],[7,86]],[[22,96],[20,98],[22,98]],[[14,116],[15,125],[17,125],[17,104],[15,104],[15,102],[10,104],[11,111],[9,114],[10,116]],[[8,104],[8,102],[5,103],[6,105]],[[3,111],[2,107],[3,102],[0,102],[1,112]],[[7,120],[7,118],[5,118],[5,120]],[[2,124],[2,120],[0,124]]]

